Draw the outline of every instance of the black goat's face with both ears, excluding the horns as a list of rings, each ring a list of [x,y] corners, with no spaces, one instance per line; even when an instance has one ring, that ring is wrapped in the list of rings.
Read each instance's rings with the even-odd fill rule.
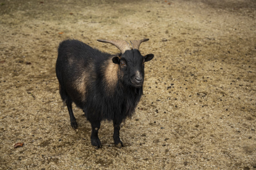
[[[151,60],[153,54],[141,55],[139,50],[126,50],[120,57],[113,57],[113,62],[120,67],[119,78],[126,85],[142,87],[144,81],[145,62]]]

